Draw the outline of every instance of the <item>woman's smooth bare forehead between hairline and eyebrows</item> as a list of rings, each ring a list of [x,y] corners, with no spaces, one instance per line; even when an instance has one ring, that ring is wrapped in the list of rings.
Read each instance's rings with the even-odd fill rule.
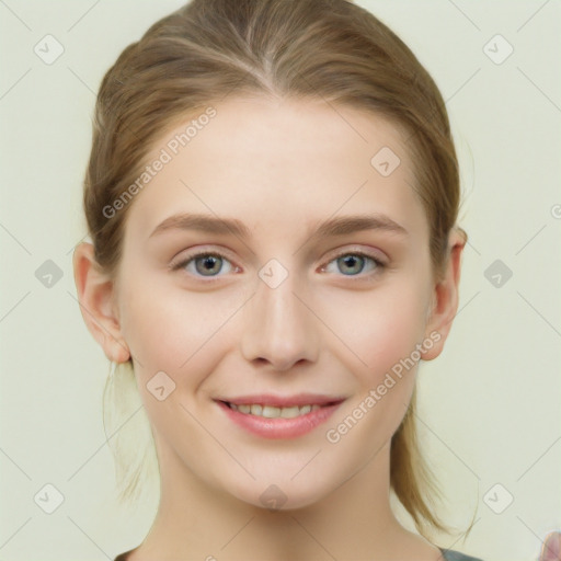
[[[210,118],[202,110],[153,142],[147,163],[167,161],[135,197],[137,236],[180,211],[282,229],[371,210],[426,233],[412,162],[389,121],[323,100],[247,98],[211,107]]]

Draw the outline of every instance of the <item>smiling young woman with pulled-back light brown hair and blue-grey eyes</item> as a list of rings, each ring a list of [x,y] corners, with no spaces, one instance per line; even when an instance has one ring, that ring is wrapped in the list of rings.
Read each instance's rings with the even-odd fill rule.
[[[474,560],[428,539],[446,526],[415,436],[417,364],[458,308],[459,199],[438,89],[350,2],[194,0],[123,51],[75,252],[160,473],[116,561]]]

